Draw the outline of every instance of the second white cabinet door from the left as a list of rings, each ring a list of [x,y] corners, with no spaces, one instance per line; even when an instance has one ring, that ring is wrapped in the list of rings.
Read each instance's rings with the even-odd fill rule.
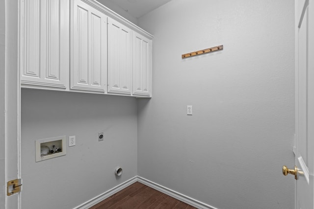
[[[106,92],[107,16],[72,0],[71,89]]]

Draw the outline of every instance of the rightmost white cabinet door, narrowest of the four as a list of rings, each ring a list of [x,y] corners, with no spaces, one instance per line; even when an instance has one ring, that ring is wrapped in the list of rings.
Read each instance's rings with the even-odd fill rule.
[[[133,94],[151,95],[152,40],[133,32]]]

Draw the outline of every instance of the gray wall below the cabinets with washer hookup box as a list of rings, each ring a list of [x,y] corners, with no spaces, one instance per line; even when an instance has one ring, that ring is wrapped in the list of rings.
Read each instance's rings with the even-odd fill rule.
[[[21,112],[24,209],[71,209],[137,175],[134,98],[24,89]],[[35,163],[36,139],[64,135],[75,135],[76,146]]]

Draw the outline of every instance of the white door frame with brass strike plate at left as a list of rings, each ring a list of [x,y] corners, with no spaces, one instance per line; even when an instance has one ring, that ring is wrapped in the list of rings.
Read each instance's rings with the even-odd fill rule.
[[[2,2],[3,4],[3,2]],[[19,70],[19,4],[4,0],[4,209],[21,209],[21,193],[7,196],[6,182],[21,179],[21,86]],[[1,116],[2,119],[3,116]],[[2,180],[1,180],[2,181]]]

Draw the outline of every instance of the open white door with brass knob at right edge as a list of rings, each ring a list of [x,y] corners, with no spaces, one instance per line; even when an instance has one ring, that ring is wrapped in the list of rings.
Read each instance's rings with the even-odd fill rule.
[[[295,208],[314,207],[314,0],[295,0]]]

